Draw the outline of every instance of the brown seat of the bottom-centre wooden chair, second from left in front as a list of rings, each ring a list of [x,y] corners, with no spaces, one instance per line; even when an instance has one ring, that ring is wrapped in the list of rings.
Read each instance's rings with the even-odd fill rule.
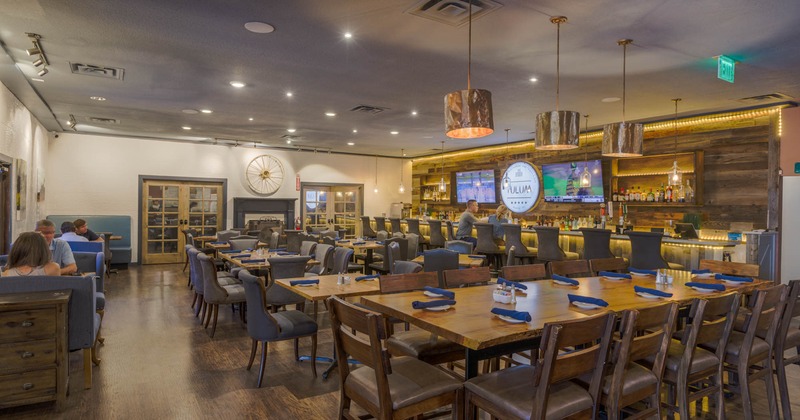
[[[527,419],[533,411],[533,374],[532,366],[515,366],[472,378],[464,387],[492,404],[503,407],[513,417]],[[550,387],[548,419],[565,418],[591,409],[592,397],[582,386],[564,381]]]

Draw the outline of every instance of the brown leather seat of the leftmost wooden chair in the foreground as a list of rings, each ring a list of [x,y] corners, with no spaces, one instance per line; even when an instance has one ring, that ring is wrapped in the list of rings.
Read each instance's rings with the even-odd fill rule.
[[[437,395],[461,388],[461,382],[443,371],[412,357],[393,357],[389,379],[389,395],[394,410],[416,404]],[[378,385],[375,371],[362,366],[353,370],[344,383],[348,394],[358,394],[376,407]]]

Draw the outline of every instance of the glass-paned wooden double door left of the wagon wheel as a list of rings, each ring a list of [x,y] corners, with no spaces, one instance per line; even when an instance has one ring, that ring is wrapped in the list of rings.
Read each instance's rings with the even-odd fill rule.
[[[214,236],[222,228],[222,183],[145,180],[142,188],[143,264],[183,262],[185,229]]]

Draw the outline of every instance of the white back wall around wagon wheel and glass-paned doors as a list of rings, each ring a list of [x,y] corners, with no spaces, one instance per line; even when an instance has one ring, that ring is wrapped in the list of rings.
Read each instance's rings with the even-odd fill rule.
[[[47,163],[49,214],[130,215],[131,246],[137,260],[139,175],[225,178],[228,180],[228,220],[233,226],[234,197],[262,197],[247,186],[244,170],[256,156],[270,154],[283,163],[285,178],[270,198],[297,198],[295,175],[301,182],[364,185],[364,213],[388,213],[393,202],[411,202],[411,163],[405,162],[406,192],[400,194],[400,160],[378,158],[375,194],[375,158],[294,152],[252,147],[215,146],[149,139],[61,133],[51,138]]]

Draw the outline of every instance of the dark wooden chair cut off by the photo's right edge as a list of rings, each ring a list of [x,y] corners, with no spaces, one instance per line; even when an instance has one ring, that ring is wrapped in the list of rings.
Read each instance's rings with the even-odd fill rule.
[[[775,341],[775,372],[778,376],[778,394],[781,397],[781,415],[786,420],[792,420],[792,404],[789,398],[789,387],[786,377],[786,366],[800,365],[800,329],[793,323],[800,317],[800,280],[789,282],[789,291],[786,295],[786,304],[778,326],[778,337]],[[794,355],[786,356],[787,351],[794,351]]]

